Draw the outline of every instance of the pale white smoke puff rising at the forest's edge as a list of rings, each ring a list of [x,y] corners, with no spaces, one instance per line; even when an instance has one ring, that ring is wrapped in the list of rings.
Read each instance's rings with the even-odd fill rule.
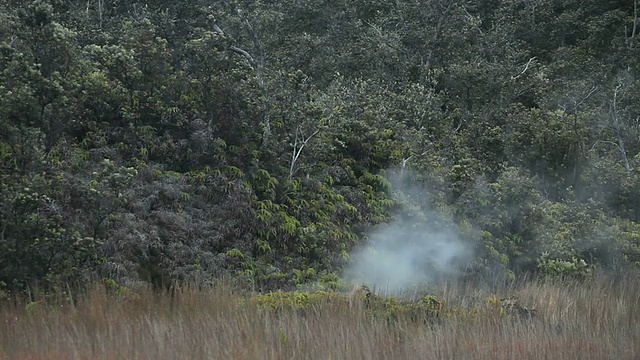
[[[403,195],[426,191],[400,190]],[[424,199],[423,196],[414,198]],[[368,238],[367,244],[351,255],[350,266],[343,276],[387,294],[456,278],[473,256],[472,246],[460,240],[455,229],[437,225],[424,216],[397,216]]]

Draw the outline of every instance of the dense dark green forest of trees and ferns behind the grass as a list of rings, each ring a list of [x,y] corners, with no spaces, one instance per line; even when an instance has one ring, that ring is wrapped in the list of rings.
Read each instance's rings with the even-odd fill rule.
[[[332,287],[398,223],[474,279],[637,268],[639,6],[4,1],[0,290]]]

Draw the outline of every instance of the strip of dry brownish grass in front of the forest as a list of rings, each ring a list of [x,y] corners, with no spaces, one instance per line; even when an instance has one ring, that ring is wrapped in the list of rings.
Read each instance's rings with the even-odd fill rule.
[[[441,289],[420,312],[419,302],[362,290],[256,296],[220,285],[169,296],[114,294],[97,285],[75,301],[61,295],[4,302],[0,358],[640,358],[637,275],[617,282],[531,281],[497,294]],[[535,308],[535,315],[510,311],[503,297]]]

